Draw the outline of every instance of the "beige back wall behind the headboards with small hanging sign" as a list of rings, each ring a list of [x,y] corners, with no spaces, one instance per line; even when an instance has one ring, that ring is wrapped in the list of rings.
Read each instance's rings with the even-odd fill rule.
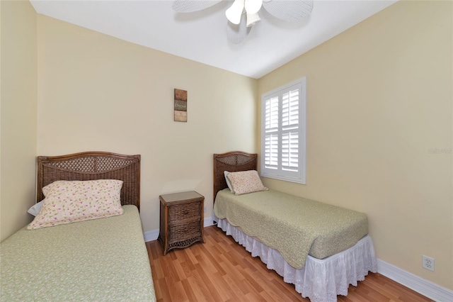
[[[181,45],[184,47],[184,45]],[[142,155],[144,231],[159,195],[195,190],[212,215],[212,154],[256,152],[256,80],[38,16],[38,154]],[[173,89],[188,122],[173,121]]]

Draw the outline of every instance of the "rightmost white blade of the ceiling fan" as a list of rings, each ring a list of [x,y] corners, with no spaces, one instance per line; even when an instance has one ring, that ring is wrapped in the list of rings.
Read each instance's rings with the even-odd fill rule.
[[[310,16],[313,1],[304,0],[264,0],[263,7],[271,15],[285,21],[300,21]]]

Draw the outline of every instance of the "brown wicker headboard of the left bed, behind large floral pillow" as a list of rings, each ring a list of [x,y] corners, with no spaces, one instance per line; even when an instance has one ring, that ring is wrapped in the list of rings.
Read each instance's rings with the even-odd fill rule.
[[[44,198],[42,187],[57,180],[122,180],[121,204],[140,209],[140,155],[80,152],[62,156],[38,156],[36,202]]]

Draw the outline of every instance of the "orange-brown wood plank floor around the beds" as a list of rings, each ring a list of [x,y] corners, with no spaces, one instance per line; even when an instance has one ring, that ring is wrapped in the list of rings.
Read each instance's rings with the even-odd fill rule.
[[[251,257],[217,226],[205,228],[205,244],[195,243],[163,255],[158,240],[147,242],[158,302],[183,301],[306,301],[258,257]],[[349,286],[343,302],[431,301],[380,274]]]

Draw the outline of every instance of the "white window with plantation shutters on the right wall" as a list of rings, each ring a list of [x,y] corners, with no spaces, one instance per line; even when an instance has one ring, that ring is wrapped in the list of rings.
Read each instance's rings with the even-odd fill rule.
[[[261,97],[261,176],[305,184],[306,78]]]

